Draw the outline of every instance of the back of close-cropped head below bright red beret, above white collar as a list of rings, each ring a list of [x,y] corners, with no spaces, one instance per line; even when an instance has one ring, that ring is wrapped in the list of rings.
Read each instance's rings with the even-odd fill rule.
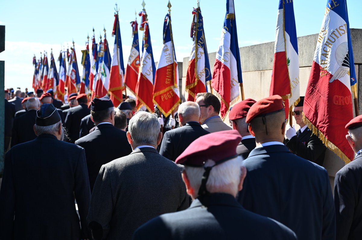
[[[285,112],[281,111],[266,115],[265,117],[255,117],[250,121],[249,131],[255,136],[257,143],[268,141],[283,142],[285,133]]]

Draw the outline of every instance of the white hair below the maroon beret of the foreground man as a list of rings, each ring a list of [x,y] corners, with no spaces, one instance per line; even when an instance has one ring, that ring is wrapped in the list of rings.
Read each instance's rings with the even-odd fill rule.
[[[215,162],[207,160],[205,167],[214,166]],[[243,158],[237,156],[226,162],[212,167],[209,179],[206,182],[206,189],[209,192],[220,192],[225,189],[226,192],[230,190],[233,192],[238,191],[238,184],[240,182],[241,166],[243,166]],[[190,185],[198,192],[201,186],[201,179],[205,172],[203,167],[185,166],[185,171],[189,179]]]

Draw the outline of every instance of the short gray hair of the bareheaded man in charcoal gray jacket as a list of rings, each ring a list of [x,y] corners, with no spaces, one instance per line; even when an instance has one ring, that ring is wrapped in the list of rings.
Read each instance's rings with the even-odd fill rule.
[[[131,118],[128,131],[136,146],[157,145],[160,128],[157,114],[138,111]]]

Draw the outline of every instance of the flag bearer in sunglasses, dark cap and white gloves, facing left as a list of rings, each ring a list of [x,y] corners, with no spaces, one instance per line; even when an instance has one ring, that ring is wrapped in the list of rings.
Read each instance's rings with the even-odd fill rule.
[[[311,162],[322,166],[325,150],[327,149],[323,142],[312,133],[302,120],[304,96],[300,97],[300,102],[295,106],[293,115],[296,124],[300,126],[298,132],[294,127],[287,125],[285,131],[286,147],[292,153]]]

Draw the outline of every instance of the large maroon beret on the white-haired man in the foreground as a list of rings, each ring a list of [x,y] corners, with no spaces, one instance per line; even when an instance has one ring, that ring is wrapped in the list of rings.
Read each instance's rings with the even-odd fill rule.
[[[176,163],[202,167],[207,160],[215,163],[237,157],[241,136],[236,130],[213,132],[199,137],[176,159]]]

